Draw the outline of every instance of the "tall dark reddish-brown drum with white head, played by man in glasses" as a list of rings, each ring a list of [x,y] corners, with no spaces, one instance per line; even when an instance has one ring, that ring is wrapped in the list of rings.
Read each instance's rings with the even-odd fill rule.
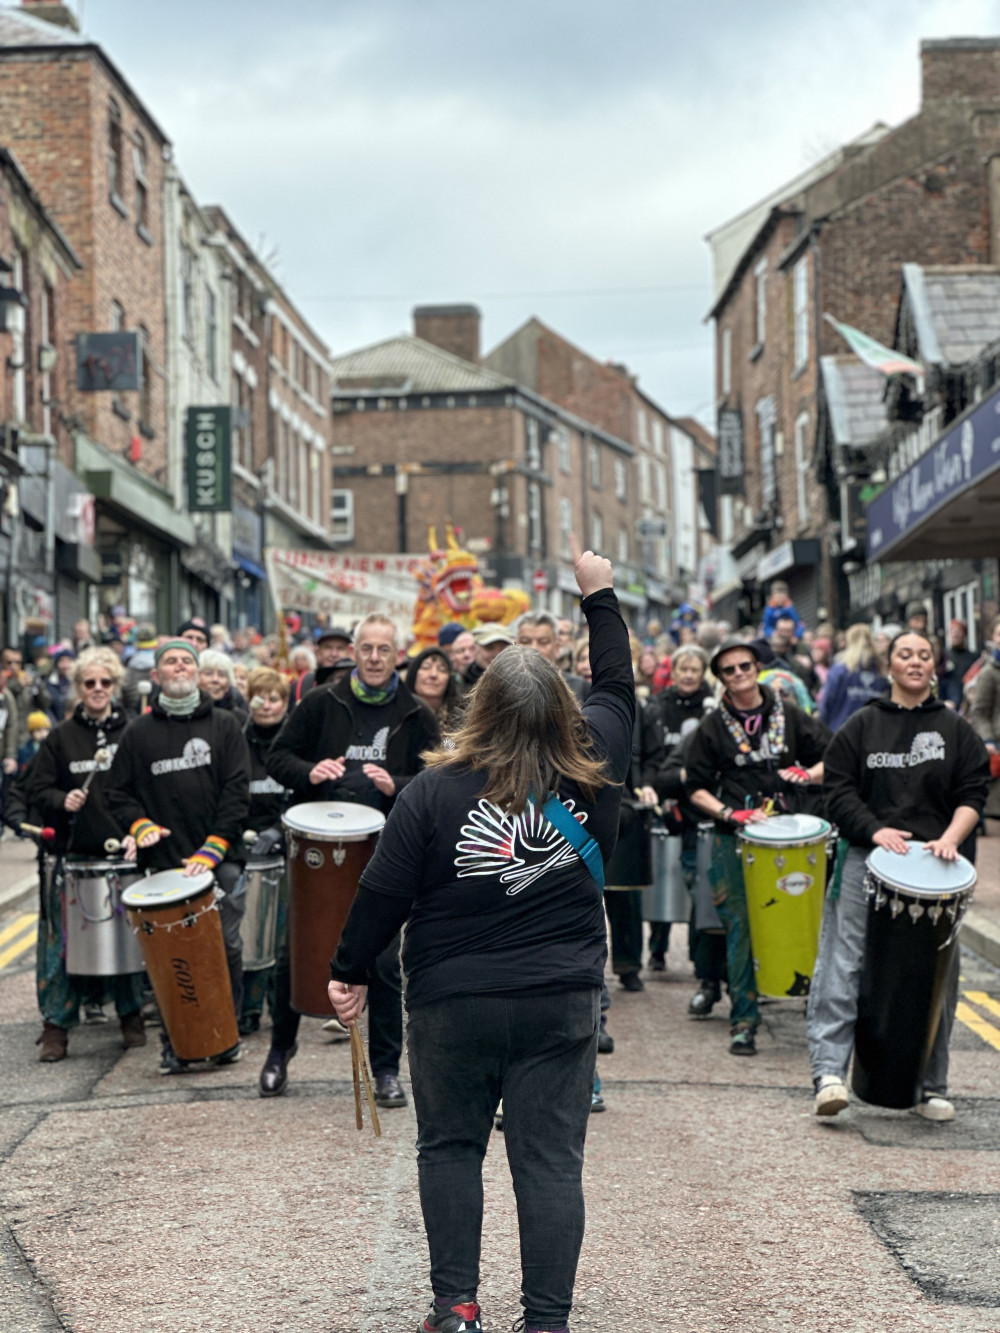
[[[309,801],[283,817],[288,842],[292,1008],[328,1018],[329,960],[385,816],[368,805]]]

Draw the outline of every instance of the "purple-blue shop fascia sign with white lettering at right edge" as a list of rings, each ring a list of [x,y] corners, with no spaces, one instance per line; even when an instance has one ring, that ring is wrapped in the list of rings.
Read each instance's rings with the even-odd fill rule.
[[[1000,392],[949,431],[868,505],[868,559],[877,560],[917,523],[1000,467]]]

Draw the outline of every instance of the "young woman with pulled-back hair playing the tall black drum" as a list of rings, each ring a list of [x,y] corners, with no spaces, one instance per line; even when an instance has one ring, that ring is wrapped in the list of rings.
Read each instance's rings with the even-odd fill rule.
[[[807,1036],[816,1088],[816,1114],[847,1106],[847,1066],[855,1040],[857,986],[868,925],[865,861],[873,846],[907,852],[911,838],[952,861],[973,834],[985,805],[989,760],[972,726],[935,698],[935,651],[927,635],[904,629],[889,644],[888,698],[872,698],[853,713],[824,758],[829,817],[851,848],[840,892],[827,898],[820,953],[809,989]],[[919,865],[913,866],[919,874]],[[913,1108],[927,1120],[952,1120],[948,1038],[955,1021],[959,954],[945,990],[944,1012],[931,1050],[924,1092]]]

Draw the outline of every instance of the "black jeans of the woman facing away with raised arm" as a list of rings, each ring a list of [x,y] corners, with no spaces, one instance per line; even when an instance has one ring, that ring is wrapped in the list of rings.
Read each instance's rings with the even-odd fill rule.
[[[565,1324],[584,1234],[599,1022],[599,989],[456,996],[411,1009],[417,1177],[436,1296],[476,1297],[483,1158],[503,1097],[525,1321]]]

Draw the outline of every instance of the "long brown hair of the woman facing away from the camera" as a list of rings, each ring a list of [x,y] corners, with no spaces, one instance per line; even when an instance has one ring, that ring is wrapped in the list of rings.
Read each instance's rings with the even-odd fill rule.
[[[505,648],[480,677],[447,746],[424,758],[431,768],[485,772],[483,797],[512,814],[529,796],[544,801],[561,777],[588,801],[611,784],[576,698],[536,648]]]

